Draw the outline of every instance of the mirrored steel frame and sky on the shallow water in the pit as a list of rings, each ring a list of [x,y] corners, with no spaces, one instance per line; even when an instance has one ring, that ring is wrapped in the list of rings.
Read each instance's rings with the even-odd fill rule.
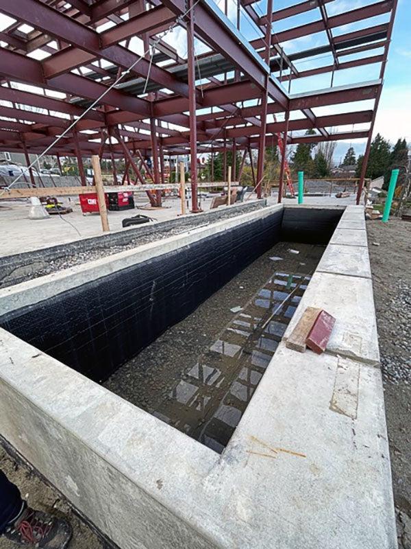
[[[152,413],[222,452],[309,281],[276,272]]]

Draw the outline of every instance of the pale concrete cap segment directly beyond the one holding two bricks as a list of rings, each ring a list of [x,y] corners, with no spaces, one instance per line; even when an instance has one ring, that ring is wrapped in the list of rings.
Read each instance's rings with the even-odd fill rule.
[[[316,270],[317,272],[347,274],[349,277],[371,279],[368,248],[366,246],[329,244]]]

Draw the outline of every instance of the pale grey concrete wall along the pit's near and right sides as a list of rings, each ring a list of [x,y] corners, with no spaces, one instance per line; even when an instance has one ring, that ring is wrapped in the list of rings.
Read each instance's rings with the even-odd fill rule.
[[[336,316],[332,352],[281,344],[223,454],[4,330],[1,434],[123,549],[397,547],[364,236],[363,210],[348,207],[295,314]],[[341,246],[358,271],[343,272]],[[32,283],[0,306],[36,299]]]

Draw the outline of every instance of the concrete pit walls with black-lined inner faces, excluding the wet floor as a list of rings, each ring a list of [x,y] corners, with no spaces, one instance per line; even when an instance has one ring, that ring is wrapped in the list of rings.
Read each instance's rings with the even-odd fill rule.
[[[279,338],[221,454],[95,382],[286,240],[327,248],[283,339],[306,306],[336,326],[321,356]],[[396,546],[360,207],[243,213],[4,288],[0,311],[1,434],[121,548]]]

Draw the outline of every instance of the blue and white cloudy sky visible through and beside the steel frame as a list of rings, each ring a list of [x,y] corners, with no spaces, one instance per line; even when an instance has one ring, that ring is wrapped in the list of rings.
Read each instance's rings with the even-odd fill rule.
[[[223,9],[225,0],[214,0],[217,7]],[[236,22],[236,1],[228,0],[228,16],[232,23]],[[258,14],[262,15],[266,13],[266,1],[259,0],[254,3],[253,6]],[[273,0],[275,10],[281,10],[289,5],[299,3],[301,0]],[[334,16],[349,10],[355,10],[364,5],[374,3],[376,0],[334,0],[326,4],[328,16]],[[377,112],[377,119],[375,121],[374,134],[381,133],[391,143],[395,143],[399,138],[405,138],[411,143],[411,0],[399,0],[397,16],[395,19],[394,31],[392,42],[390,45],[390,52],[388,55],[388,65],[386,67],[386,73],[384,76],[384,89],[382,92],[381,101],[379,103],[379,109]],[[123,17],[125,19],[127,16]],[[282,32],[290,27],[297,27],[304,25],[312,21],[320,19],[320,12],[318,8],[311,10],[304,14],[299,14],[294,17],[282,21],[276,21],[273,25],[273,32]],[[6,18],[7,19],[7,18]],[[347,32],[358,30],[359,28],[372,27],[379,25],[380,23],[386,23],[388,21],[388,14],[368,19],[366,23],[351,23],[342,27],[333,29],[333,35],[345,34]],[[11,21],[12,22],[12,21]],[[10,21],[5,21],[5,16],[0,14],[0,30],[8,26]],[[107,29],[114,23],[108,23],[101,25],[98,29],[99,32]],[[27,25],[23,25],[27,27]],[[23,30],[21,27],[21,30]],[[27,27],[24,32],[29,32],[31,27]],[[240,31],[245,38],[252,40],[260,36],[256,26],[251,23],[251,20],[246,14],[242,14],[240,21]],[[175,47],[180,56],[186,57],[186,32],[181,27],[177,28],[173,32],[170,32],[164,37],[166,42],[169,42]],[[297,40],[290,40],[286,43],[282,43],[287,54],[291,54],[295,51],[310,49],[312,47],[327,44],[327,36],[325,32],[316,33],[312,36],[298,38]],[[3,45],[0,43],[0,45]],[[130,49],[136,51],[136,53],[142,53],[142,40],[139,38],[133,38],[130,44]],[[207,47],[199,40],[195,41],[196,54],[199,55],[203,51],[207,51]],[[356,54],[356,56],[345,56],[344,60],[351,60],[358,58],[358,56],[370,56],[382,54],[382,49],[371,50],[364,54]],[[44,58],[47,56],[44,51],[36,50],[30,54],[34,58]],[[331,54],[323,54],[316,58],[309,58],[295,62],[295,66],[299,71],[320,67],[323,65],[331,65]],[[379,76],[379,65],[365,65],[364,67],[357,67],[354,69],[347,69],[343,71],[336,71],[334,76],[334,86],[341,86],[351,84],[353,82],[366,82],[374,80]],[[284,83],[285,84],[285,83]],[[315,91],[319,89],[328,88],[330,85],[330,75],[316,75],[310,78],[299,78],[292,81],[290,93],[302,93],[306,91]],[[20,84],[21,86],[21,84]],[[34,89],[32,90],[34,91]],[[254,103],[250,103],[254,104]],[[246,105],[247,106],[247,105]],[[373,102],[364,101],[356,102],[350,106],[341,105],[335,107],[322,107],[314,108],[314,114],[317,116],[337,114],[339,112],[367,110],[373,108]],[[201,113],[201,111],[199,111]],[[292,113],[291,118],[301,118],[301,113]],[[281,120],[282,115],[279,115],[277,119]],[[268,120],[273,121],[269,118]],[[355,128],[333,128],[334,131],[350,131],[351,129],[361,130],[367,126],[356,125]],[[296,132],[298,135],[298,132]],[[362,154],[365,147],[364,139],[353,140],[352,142],[340,141],[338,142],[334,160],[338,162],[347,151],[347,148],[352,145],[356,150],[356,154]]]

